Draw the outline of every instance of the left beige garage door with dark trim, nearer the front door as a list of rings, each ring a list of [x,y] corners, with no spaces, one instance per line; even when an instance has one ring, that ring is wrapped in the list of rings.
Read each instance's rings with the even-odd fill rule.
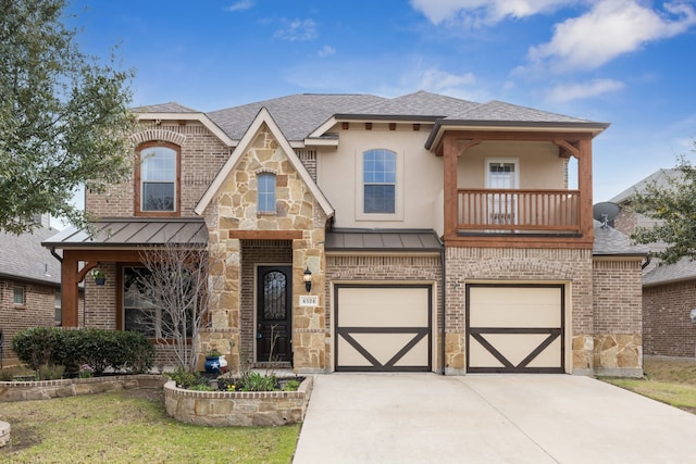
[[[336,371],[431,369],[431,286],[336,285]]]

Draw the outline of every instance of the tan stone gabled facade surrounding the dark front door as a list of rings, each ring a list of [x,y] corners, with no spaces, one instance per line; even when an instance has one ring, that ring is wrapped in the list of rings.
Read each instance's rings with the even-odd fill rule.
[[[260,173],[276,176],[274,214],[257,211],[257,175]],[[204,216],[212,263],[211,327],[201,334],[196,347],[198,352],[216,348],[228,355],[233,366],[245,362],[240,358],[240,347],[243,351],[249,348],[249,341],[241,339],[241,322],[252,321],[253,304],[244,284],[244,242],[250,249],[256,241],[254,231],[259,240],[265,240],[264,233],[268,231],[289,231],[301,235],[301,238],[288,240],[286,254],[293,266],[294,366],[302,373],[325,372],[325,299],[319,293],[318,306],[300,306],[299,294],[306,293],[302,281],[306,267],[313,274],[313,287],[324,288],[326,217],[268,126],[262,125],[207,208]],[[248,334],[249,329],[246,330]]]

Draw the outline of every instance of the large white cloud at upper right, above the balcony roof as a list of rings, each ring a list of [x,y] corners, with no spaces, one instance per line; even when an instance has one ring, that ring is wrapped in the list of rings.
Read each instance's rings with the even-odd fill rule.
[[[588,13],[558,24],[549,42],[530,49],[530,60],[554,71],[594,70],[696,24],[693,7],[666,3],[663,8],[658,12],[636,0],[600,0]]]

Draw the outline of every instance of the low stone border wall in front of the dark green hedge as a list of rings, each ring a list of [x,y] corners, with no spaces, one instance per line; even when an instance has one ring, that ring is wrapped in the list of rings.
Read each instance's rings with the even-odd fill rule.
[[[129,388],[162,388],[161,375],[114,375],[40,381],[0,381],[0,402],[48,400],[78,394],[102,393]]]

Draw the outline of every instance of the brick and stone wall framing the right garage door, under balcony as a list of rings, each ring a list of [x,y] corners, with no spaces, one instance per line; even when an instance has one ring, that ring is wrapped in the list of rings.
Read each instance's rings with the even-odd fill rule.
[[[447,260],[447,372],[465,371],[465,284],[566,283],[571,292],[572,372],[591,372],[593,362],[592,251],[574,249],[448,248]]]

